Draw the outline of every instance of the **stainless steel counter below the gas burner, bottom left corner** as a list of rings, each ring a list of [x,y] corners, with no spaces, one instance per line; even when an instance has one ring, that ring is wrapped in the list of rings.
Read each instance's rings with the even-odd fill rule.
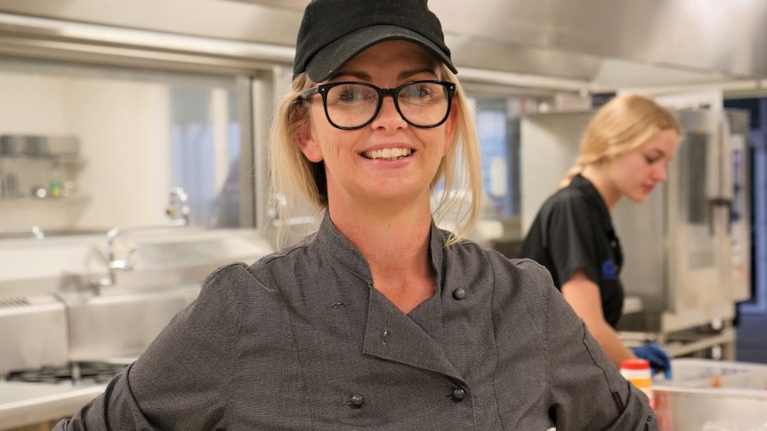
[[[0,381],[0,430],[71,416],[105,387]]]

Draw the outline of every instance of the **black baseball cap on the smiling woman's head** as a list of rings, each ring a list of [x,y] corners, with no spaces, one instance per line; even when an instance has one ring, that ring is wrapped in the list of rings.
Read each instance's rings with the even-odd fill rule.
[[[307,72],[316,83],[335,75],[352,57],[387,40],[423,46],[458,73],[440,20],[427,0],[311,0],[295,44],[293,78]]]

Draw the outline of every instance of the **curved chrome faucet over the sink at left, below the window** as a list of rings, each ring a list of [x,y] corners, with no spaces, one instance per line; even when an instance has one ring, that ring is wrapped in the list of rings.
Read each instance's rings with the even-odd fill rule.
[[[133,226],[133,227],[112,227],[107,231],[107,268],[109,274],[107,277],[96,280],[94,287],[97,292],[98,289],[103,286],[111,286],[117,282],[117,271],[131,271],[133,270],[133,264],[131,260],[136,252],[134,247],[131,247],[123,259],[117,259],[117,253],[115,251],[115,243],[117,236],[125,232],[137,232],[155,229],[165,229],[168,227],[184,227],[189,225],[190,221],[190,207],[189,196],[183,190],[183,188],[173,188],[171,190],[168,207],[166,208],[166,214],[170,217],[170,221],[166,223],[160,223],[157,225],[147,226]]]

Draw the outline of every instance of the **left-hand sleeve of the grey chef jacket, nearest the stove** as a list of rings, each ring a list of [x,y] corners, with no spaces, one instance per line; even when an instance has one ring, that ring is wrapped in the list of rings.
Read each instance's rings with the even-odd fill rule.
[[[230,309],[236,289],[230,286],[243,275],[243,268],[231,265],[208,276],[198,298],[131,366],[53,430],[223,429],[224,394],[235,356],[230,344],[237,333]]]

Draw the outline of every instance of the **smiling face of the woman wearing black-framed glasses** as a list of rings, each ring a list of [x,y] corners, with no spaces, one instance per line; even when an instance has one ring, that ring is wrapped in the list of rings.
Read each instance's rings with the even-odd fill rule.
[[[329,82],[360,82],[395,88],[418,80],[440,79],[439,63],[417,44],[375,44],[349,61]],[[339,205],[429,205],[430,184],[456,131],[457,112],[431,129],[408,124],[391,97],[375,119],[357,130],[329,124],[322,99],[310,100],[310,126],[299,135],[303,155],[324,162],[329,207]]]

